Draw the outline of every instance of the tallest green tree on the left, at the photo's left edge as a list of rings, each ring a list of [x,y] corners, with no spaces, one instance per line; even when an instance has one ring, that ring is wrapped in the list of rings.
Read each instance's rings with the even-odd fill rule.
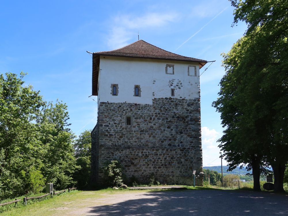
[[[31,85],[24,86],[24,75],[0,74],[0,199],[22,195],[21,171],[41,164],[39,132],[32,122],[45,101]]]

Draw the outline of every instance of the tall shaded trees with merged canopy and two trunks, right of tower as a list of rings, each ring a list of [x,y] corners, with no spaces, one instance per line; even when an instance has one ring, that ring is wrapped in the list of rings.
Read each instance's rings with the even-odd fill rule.
[[[255,190],[259,173],[271,165],[274,191],[281,192],[288,160],[287,2],[230,1],[234,24],[244,21],[248,29],[223,55],[226,74],[213,103],[226,127],[220,147],[230,168],[248,163]]]

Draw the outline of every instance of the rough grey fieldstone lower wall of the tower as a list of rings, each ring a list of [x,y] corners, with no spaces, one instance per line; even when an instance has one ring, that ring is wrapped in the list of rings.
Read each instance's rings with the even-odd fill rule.
[[[132,125],[125,124],[126,115]],[[113,159],[128,178],[149,182],[154,174],[160,183],[193,185],[193,170],[202,172],[200,98],[155,98],[152,105],[101,102],[92,131],[92,181],[103,183],[99,167]],[[196,185],[202,184],[200,174]]]

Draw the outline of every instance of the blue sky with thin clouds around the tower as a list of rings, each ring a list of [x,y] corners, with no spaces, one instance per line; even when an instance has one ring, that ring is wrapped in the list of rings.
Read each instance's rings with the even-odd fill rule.
[[[246,30],[245,23],[232,28],[232,22],[233,8],[226,0],[3,1],[0,73],[26,72],[26,84],[40,90],[46,101],[65,102],[71,129],[79,135],[97,121],[94,96],[88,98],[92,58],[86,50],[126,46],[138,39],[139,31],[140,39],[164,50],[216,60],[200,76],[203,165],[216,166],[221,164],[216,141],[223,128],[211,103],[225,73],[220,54]]]

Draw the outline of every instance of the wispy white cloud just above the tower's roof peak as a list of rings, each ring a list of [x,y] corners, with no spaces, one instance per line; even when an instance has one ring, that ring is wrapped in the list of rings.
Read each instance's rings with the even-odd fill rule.
[[[147,13],[138,17],[117,16],[113,19],[111,31],[107,36],[107,45],[112,49],[121,48],[128,45],[132,37],[136,40],[138,31],[166,26],[176,18],[176,13]]]

